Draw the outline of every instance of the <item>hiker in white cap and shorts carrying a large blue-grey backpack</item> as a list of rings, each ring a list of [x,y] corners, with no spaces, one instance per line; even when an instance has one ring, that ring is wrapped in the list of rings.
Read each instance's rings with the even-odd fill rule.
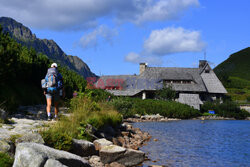
[[[51,120],[51,104],[52,100],[54,100],[55,106],[55,116],[54,120],[58,120],[58,112],[59,112],[59,100],[60,96],[64,96],[63,89],[63,78],[62,75],[57,71],[57,64],[51,64],[51,68],[48,69],[48,72],[45,76],[45,82],[47,84],[47,89],[44,89],[44,95],[47,100],[47,115],[48,121]]]

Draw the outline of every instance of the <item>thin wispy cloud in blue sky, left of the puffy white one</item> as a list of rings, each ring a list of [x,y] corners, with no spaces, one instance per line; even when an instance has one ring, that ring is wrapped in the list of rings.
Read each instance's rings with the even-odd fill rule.
[[[80,39],[80,46],[82,48],[96,48],[98,43],[104,39],[105,42],[112,45],[113,38],[117,35],[117,31],[115,29],[110,29],[105,25],[101,25],[96,28],[94,31],[84,35]]]

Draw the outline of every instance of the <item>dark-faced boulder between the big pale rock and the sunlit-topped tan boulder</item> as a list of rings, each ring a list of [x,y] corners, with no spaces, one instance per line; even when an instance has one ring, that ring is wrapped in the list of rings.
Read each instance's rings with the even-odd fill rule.
[[[82,157],[95,155],[97,151],[95,150],[95,145],[87,140],[77,140],[73,139],[72,153],[80,155]]]

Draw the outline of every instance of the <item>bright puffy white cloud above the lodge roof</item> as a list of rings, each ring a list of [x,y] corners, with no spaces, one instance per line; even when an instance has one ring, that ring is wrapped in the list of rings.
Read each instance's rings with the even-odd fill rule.
[[[167,55],[178,52],[199,52],[205,47],[199,31],[183,28],[154,30],[144,42],[144,49],[154,55]]]

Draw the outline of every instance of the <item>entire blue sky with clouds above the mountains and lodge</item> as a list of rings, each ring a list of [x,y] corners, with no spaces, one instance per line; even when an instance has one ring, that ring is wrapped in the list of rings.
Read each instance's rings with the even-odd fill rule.
[[[97,75],[212,67],[250,47],[250,0],[0,0],[0,16],[52,39]]]

